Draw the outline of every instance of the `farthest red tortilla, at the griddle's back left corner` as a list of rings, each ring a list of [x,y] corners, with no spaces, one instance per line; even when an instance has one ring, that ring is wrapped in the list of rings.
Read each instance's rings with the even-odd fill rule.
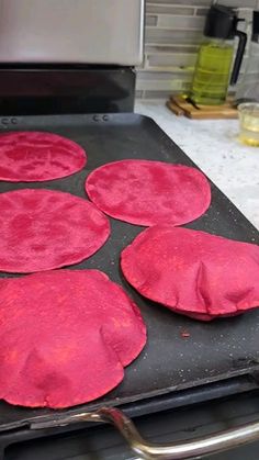
[[[70,176],[87,162],[82,147],[66,137],[42,132],[0,135],[0,180],[42,182]]]

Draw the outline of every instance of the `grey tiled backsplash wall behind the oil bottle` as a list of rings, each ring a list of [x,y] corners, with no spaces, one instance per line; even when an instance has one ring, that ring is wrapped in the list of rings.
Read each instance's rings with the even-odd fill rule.
[[[137,98],[166,99],[190,88],[211,3],[212,0],[146,0],[145,57],[137,70]],[[246,24],[251,21],[252,9],[259,9],[259,0],[218,3],[237,7]],[[245,30],[245,25],[239,29]]]

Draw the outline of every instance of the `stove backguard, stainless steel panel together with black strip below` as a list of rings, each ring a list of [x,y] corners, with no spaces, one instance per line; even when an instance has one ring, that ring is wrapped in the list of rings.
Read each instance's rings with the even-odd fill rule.
[[[0,112],[132,111],[143,31],[144,0],[0,0]]]

